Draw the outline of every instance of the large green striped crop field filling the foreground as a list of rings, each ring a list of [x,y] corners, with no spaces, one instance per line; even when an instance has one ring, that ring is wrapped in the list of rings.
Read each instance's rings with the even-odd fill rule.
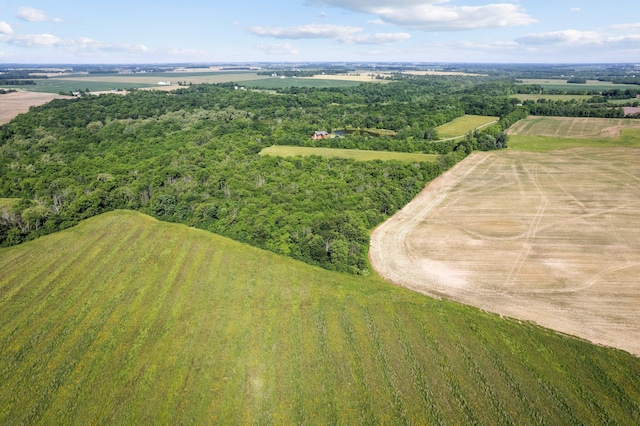
[[[627,353],[138,213],[0,271],[2,424],[640,422]]]

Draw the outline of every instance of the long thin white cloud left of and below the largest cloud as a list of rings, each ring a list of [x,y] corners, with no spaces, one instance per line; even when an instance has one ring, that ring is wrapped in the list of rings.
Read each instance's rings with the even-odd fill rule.
[[[361,27],[330,24],[309,24],[294,27],[252,27],[249,29],[260,37],[281,39],[331,39],[345,44],[389,44],[406,40],[407,33],[362,34]]]

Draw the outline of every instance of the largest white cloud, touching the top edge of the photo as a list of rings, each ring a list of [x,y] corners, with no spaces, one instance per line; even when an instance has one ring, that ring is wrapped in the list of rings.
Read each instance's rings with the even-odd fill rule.
[[[518,4],[450,6],[448,0],[308,0],[311,5],[335,6],[378,15],[387,23],[425,31],[455,31],[529,25],[537,20]]]

